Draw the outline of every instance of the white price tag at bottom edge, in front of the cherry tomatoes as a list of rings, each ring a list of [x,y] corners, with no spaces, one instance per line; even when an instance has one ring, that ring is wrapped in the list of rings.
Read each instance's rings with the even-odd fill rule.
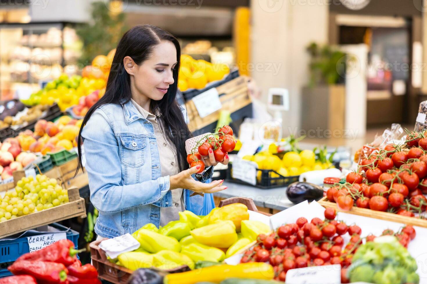
[[[341,283],[341,265],[312,266],[290,269],[286,273],[287,284],[339,284]]]

